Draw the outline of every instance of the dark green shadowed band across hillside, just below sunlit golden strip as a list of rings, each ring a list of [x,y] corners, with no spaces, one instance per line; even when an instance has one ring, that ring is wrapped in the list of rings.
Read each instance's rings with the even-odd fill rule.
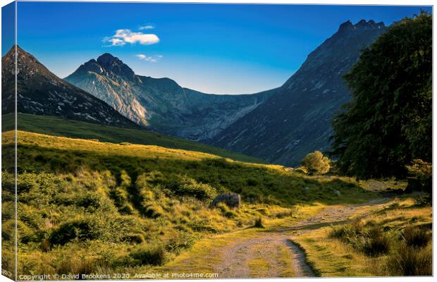
[[[132,183],[135,183],[142,173],[160,171],[168,178],[187,176],[197,183],[207,183],[218,191],[238,192],[242,195],[243,202],[279,204],[283,207],[316,202],[356,204],[372,197],[380,197],[376,192],[369,192],[355,183],[339,178],[324,178],[322,181],[225,159],[192,161],[182,157],[170,159],[159,156],[128,156],[126,152],[128,151],[123,154],[112,151],[90,152],[19,144],[18,173],[75,173],[80,168],[87,168],[92,171],[111,171],[120,182],[121,171],[125,171]],[[340,195],[337,195],[338,192]]]

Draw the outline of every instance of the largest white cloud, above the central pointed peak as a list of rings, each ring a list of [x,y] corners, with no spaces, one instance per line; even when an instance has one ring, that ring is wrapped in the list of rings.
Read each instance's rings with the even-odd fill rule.
[[[159,42],[159,37],[154,34],[145,34],[143,32],[132,32],[131,30],[117,30],[116,34],[111,37],[105,37],[103,42],[111,43],[109,46],[121,46],[126,43],[142,45],[151,45]]]

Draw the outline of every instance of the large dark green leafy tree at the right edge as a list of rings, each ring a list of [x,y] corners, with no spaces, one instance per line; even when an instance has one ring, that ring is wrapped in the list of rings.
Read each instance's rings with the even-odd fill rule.
[[[394,23],[345,75],[352,102],[333,118],[333,156],[350,176],[405,176],[432,159],[432,17]]]

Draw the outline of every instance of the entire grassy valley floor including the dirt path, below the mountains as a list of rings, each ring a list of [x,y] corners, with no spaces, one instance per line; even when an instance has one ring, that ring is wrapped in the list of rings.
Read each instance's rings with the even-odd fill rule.
[[[2,262],[13,269],[17,224],[18,274],[431,275],[429,200],[379,193],[403,190],[404,181],[357,182],[156,145],[17,135],[18,220],[15,168],[5,161]],[[3,133],[4,160],[14,148],[13,132]],[[211,208],[223,192],[240,194],[240,209]],[[263,228],[254,228],[259,221]]]

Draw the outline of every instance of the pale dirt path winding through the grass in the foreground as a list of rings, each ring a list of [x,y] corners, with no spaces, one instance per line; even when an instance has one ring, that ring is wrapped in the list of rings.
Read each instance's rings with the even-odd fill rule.
[[[305,262],[304,253],[290,238],[315,228],[345,223],[350,216],[364,216],[374,209],[363,209],[363,206],[376,207],[383,202],[386,200],[377,199],[347,207],[328,207],[294,226],[259,233],[252,238],[236,239],[218,250],[216,255],[221,259],[219,264],[214,265],[214,271],[219,274],[219,278],[314,277],[314,272]],[[290,269],[293,270],[290,272]]]

